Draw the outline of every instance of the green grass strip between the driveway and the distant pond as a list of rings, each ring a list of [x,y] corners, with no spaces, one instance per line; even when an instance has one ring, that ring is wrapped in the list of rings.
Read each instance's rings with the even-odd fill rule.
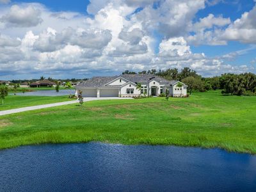
[[[54,102],[63,102],[71,100],[68,96],[58,96],[58,97],[46,97],[46,96],[20,96],[20,95],[8,95],[4,99],[4,105],[2,105],[2,100],[0,100],[0,111],[24,108],[28,106],[37,106],[40,104],[50,104]]]

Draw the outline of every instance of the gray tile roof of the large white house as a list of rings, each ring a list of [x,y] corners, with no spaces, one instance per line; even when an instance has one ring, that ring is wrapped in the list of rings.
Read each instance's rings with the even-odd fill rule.
[[[167,79],[164,79],[163,77],[154,76],[152,74],[124,74],[121,76],[113,76],[113,77],[92,77],[91,79],[88,79],[86,81],[83,81],[79,84],[77,84],[77,88],[81,87],[103,87],[105,84],[113,81],[117,77],[123,77],[124,79],[127,79],[128,81],[131,81],[133,83],[148,83],[148,81],[152,79],[156,79],[156,81],[159,81],[160,83],[164,84],[175,84],[178,81],[168,81]],[[108,85],[110,86],[110,85]]]

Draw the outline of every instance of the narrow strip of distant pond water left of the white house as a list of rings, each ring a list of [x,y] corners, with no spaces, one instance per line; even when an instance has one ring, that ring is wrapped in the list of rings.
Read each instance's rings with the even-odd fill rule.
[[[26,95],[26,96],[62,96],[75,94],[75,90],[60,90],[60,92],[56,92],[56,90],[40,90],[36,92],[25,92],[25,93],[16,93],[16,95]]]

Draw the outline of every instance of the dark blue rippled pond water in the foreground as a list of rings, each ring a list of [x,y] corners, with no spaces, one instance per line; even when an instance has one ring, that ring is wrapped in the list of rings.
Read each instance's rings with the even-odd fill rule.
[[[255,191],[256,156],[83,143],[0,151],[0,191]]]

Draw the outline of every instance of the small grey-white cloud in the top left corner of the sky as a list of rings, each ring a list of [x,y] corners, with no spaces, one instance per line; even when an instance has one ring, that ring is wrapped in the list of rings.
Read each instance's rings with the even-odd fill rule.
[[[36,9],[34,6],[22,8],[15,4],[6,15],[1,17],[1,21],[6,23],[6,26],[28,28],[37,26],[43,21],[40,15],[40,10]]]

